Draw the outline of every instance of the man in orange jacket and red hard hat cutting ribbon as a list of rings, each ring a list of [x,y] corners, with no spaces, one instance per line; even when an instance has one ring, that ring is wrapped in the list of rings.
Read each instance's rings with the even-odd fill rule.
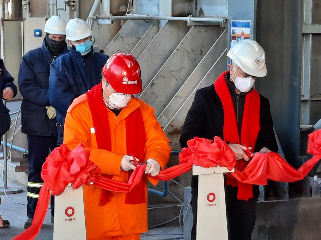
[[[142,92],[138,62],[131,54],[115,53],[102,75],[101,84],[69,107],[64,143],[74,149],[81,142],[101,174],[114,180],[128,181],[134,157],[147,164],[146,174],[156,176],[171,150],[154,109],[133,97]],[[138,240],[147,231],[147,177],[130,193],[95,186],[84,186],[83,192],[87,239]]]

